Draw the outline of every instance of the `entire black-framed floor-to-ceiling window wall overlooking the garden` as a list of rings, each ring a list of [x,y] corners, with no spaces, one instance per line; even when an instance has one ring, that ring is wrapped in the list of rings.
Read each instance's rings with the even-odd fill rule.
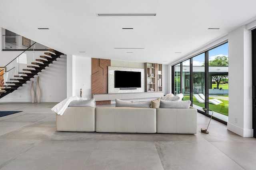
[[[183,100],[192,100],[192,106],[198,111],[204,113],[202,108],[210,109],[214,117],[228,122],[228,43],[204,51],[172,68],[172,93],[183,93]]]

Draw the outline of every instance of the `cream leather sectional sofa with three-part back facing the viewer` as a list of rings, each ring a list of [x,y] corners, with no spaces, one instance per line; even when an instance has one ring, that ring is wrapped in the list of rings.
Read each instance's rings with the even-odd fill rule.
[[[139,107],[68,107],[56,114],[58,131],[177,133],[197,132],[197,110]]]

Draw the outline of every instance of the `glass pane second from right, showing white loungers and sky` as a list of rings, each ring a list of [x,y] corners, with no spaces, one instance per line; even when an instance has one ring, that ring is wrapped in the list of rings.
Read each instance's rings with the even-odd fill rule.
[[[193,57],[193,107],[203,111],[205,100],[201,94],[204,94],[204,61],[205,53]]]

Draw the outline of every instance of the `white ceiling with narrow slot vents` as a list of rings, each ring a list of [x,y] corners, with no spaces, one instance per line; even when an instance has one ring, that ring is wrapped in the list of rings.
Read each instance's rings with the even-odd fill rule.
[[[5,0],[0,27],[68,55],[169,64],[256,20],[255,6],[256,0]],[[156,16],[96,15],[102,13]]]

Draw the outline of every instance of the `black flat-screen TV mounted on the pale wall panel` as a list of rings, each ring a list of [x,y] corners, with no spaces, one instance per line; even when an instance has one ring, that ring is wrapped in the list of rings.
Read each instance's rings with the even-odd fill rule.
[[[115,88],[141,87],[141,72],[115,71]]]

